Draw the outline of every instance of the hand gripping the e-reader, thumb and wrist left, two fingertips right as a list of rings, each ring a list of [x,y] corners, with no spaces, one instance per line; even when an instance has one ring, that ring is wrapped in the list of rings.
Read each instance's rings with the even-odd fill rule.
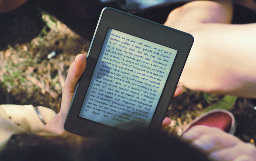
[[[76,85],[86,66],[86,57],[83,54],[79,54],[75,58],[68,71],[68,76],[65,80],[63,93],[62,93],[62,102],[60,107],[60,112],[56,114],[43,128],[39,131],[40,135],[65,135],[68,133],[64,130],[64,123],[68,110],[75,93]],[[174,97],[182,93],[182,87],[177,86],[174,93]],[[171,123],[170,118],[165,118],[163,120],[162,127],[165,127]],[[75,135],[75,134],[74,134]]]

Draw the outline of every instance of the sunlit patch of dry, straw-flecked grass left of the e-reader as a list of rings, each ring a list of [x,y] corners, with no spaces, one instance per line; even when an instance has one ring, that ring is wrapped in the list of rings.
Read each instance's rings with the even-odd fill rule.
[[[42,11],[45,26],[29,43],[0,51],[1,103],[60,109],[65,75],[75,56],[87,54],[89,42]],[[55,51],[56,56],[47,59]]]

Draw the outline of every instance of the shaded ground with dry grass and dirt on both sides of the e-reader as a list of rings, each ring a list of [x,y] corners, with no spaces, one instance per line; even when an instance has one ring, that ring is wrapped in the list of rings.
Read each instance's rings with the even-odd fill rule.
[[[49,5],[50,4],[50,5]],[[174,6],[175,7],[175,6]],[[171,7],[138,13],[164,23]],[[67,14],[58,1],[28,1],[0,14],[0,104],[32,104],[60,110],[62,87],[70,64],[79,53],[87,54],[98,21]],[[161,17],[161,19],[156,18]],[[50,53],[55,56],[47,58]],[[231,111],[237,121],[235,135],[255,144],[256,110],[245,98],[201,93],[184,87],[173,98],[166,131],[179,135],[197,116],[210,109]]]

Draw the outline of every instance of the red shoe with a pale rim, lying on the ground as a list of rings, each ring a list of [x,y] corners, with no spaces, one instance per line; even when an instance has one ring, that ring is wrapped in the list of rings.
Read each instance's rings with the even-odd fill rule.
[[[217,127],[229,134],[234,134],[236,131],[236,121],[234,116],[226,110],[213,110],[197,117],[184,128],[182,135],[191,127],[197,125]]]

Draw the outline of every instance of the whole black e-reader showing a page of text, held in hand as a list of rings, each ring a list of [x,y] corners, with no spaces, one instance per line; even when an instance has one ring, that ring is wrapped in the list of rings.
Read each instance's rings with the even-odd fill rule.
[[[104,8],[65,130],[94,137],[160,129],[193,41],[188,33]]]

